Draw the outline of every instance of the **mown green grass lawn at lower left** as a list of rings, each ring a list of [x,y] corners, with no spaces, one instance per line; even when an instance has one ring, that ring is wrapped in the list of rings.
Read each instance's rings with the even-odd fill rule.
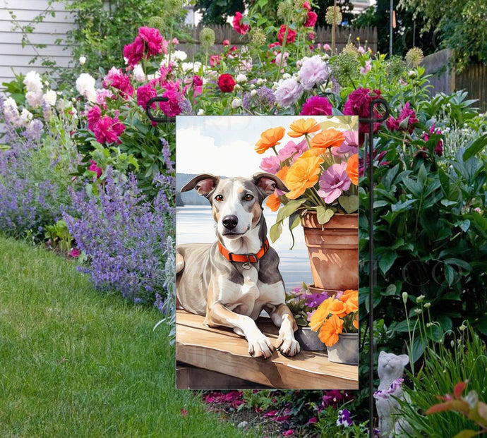
[[[244,436],[174,389],[157,310],[95,291],[75,266],[0,236],[0,436]]]

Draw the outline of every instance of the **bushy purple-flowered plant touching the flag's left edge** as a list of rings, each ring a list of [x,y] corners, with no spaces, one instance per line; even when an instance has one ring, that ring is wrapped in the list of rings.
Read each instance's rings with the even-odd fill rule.
[[[136,177],[106,170],[100,197],[70,190],[78,218],[64,220],[78,247],[90,256],[85,269],[97,288],[117,290],[136,303],[154,303],[155,293],[167,296],[167,237],[174,231],[174,181],[160,177],[153,202],[140,192]],[[174,196],[174,195],[172,195]]]

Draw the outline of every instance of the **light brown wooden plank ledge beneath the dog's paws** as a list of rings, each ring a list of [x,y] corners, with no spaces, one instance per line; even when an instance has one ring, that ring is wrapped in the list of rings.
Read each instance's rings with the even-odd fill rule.
[[[176,360],[279,389],[359,388],[357,366],[331,363],[325,353],[316,351],[301,351],[294,358],[278,351],[267,360],[252,358],[243,337],[225,327],[205,327],[203,320],[178,310]],[[264,320],[258,326],[275,344],[277,327]]]

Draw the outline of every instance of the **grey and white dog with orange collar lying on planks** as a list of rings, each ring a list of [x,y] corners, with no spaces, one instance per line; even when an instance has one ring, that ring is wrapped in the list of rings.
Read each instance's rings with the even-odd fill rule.
[[[187,243],[176,248],[176,303],[204,315],[204,324],[224,326],[245,336],[248,353],[270,358],[274,347],[255,324],[261,310],[279,327],[276,348],[299,353],[296,321],[285,304],[279,257],[267,241],[262,202],[276,188],[289,191],[272,174],[252,178],[220,178],[201,174],[181,192],[196,188],[212,206],[217,241]]]

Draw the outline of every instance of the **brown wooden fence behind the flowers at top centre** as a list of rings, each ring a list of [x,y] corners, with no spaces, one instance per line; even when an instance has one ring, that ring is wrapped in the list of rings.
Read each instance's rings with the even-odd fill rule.
[[[212,51],[219,53],[223,49],[223,41],[227,39],[230,44],[236,47],[241,47],[248,44],[248,35],[237,34],[231,25],[211,25],[210,28],[215,31],[215,45],[212,47]],[[202,25],[195,26],[193,29],[189,29],[191,38],[181,39],[178,49],[186,51],[188,57],[191,58],[193,54],[199,51],[198,36],[200,35]],[[332,42],[332,29],[331,28],[315,28],[315,43],[330,44]],[[357,44],[356,38],[359,37],[362,45],[366,44],[366,47],[370,47],[374,52],[377,51],[377,29],[376,28],[337,28],[335,34],[335,47],[341,50],[348,42],[354,42]],[[276,39],[277,41],[277,39]]]

